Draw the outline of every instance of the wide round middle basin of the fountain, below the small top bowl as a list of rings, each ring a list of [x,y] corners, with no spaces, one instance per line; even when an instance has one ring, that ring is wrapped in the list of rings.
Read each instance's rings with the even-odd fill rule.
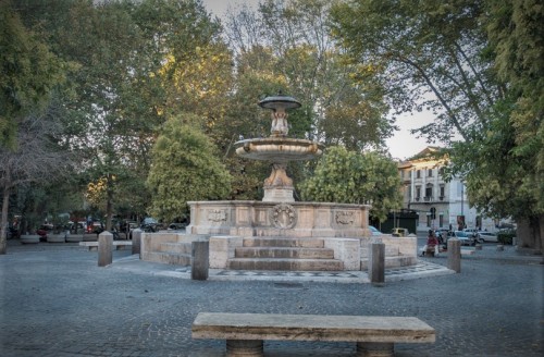
[[[288,162],[312,160],[323,152],[323,146],[306,139],[265,137],[234,144],[236,155],[254,160]]]

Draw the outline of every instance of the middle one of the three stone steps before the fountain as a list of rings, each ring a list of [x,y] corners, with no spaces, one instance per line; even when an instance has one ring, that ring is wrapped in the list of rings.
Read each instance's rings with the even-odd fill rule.
[[[234,255],[236,258],[334,259],[334,250],[327,248],[240,247]]]

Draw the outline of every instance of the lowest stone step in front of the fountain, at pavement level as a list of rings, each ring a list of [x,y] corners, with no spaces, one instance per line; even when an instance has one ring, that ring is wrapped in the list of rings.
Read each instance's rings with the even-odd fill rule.
[[[344,263],[334,259],[228,259],[228,269],[233,270],[286,270],[286,271],[324,271],[344,270]]]

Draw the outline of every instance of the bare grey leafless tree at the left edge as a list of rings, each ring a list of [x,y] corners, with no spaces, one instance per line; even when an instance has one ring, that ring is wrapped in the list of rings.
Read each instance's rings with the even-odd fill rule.
[[[0,187],[2,218],[0,254],[7,253],[8,205],[15,187],[30,183],[55,181],[71,164],[66,151],[59,150],[57,140],[62,133],[54,115],[28,115],[20,123],[17,148],[0,148]]]

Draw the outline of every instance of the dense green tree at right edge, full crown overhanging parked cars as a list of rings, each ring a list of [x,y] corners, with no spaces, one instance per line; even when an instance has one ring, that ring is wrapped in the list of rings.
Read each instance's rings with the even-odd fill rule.
[[[487,1],[486,52],[506,98],[470,140],[454,146],[454,170],[466,175],[471,202],[518,221],[519,246],[544,251],[544,20],[534,1]]]

